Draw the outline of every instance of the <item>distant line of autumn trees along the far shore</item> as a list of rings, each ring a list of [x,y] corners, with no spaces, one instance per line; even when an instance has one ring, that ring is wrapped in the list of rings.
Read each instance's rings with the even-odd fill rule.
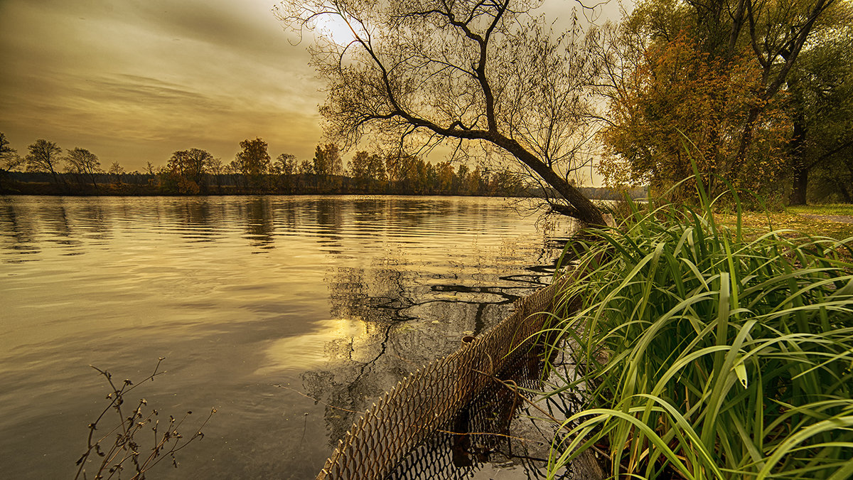
[[[311,160],[281,154],[275,161],[261,138],[240,143],[228,164],[206,150],[178,150],[164,167],[148,162],[146,172],[127,173],[118,162],[105,172],[86,149],[62,154],[55,143],[39,139],[21,158],[11,152],[0,171],[0,192],[29,195],[467,195],[543,196],[527,177],[507,170],[471,169],[450,161],[432,164],[415,155],[357,152],[344,167],[334,143],[318,145]],[[15,161],[15,159],[18,159]],[[15,167],[12,167],[12,166]],[[25,172],[17,171],[26,167]],[[583,188],[591,198],[617,199],[623,194]],[[644,196],[644,191],[631,192]]]

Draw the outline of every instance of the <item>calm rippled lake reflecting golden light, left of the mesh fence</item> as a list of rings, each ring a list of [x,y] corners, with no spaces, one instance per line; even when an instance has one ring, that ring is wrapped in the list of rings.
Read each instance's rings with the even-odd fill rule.
[[[572,226],[495,198],[2,196],[0,471],[73,477],[111,391],[90,365],[165,357],[127,401],[218,413],[151,477],[312,478],[354,412],[547,284]]]

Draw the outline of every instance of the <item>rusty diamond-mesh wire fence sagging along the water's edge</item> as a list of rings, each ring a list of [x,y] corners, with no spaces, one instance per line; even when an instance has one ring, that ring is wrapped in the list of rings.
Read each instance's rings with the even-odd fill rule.
[[[466,337],[454,354],[403,378],[352,424],[318,480],[381,480],[427,436],[494,380],[525,342],[542,329],[558,284],[515,302],[514,312],[480,337]],[[537,314],[538,313],[538,314]]]

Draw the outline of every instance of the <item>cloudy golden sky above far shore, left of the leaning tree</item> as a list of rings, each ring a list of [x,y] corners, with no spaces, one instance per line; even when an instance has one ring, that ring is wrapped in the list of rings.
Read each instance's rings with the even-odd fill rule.
[[[228,162],[256,137],[273,158],[310,158],[322,81],[275,4],[0,0],[0,132],[21,155],[45,138],[128,171],[190,148]],[[572,4],[551,0],[548,13],[564,19]]]

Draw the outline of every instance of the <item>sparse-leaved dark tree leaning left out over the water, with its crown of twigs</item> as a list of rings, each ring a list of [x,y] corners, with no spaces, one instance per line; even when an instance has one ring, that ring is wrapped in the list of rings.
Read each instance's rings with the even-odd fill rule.
[[[385,138],[401,148],[513,158],[556,191],[551,207],[589,224],[601,212],[569,182],[588,98],[583,52],[552,35],[537,0],[289,0],[274,13],[313,31],[326,81],[326,131],[349,148]]]

